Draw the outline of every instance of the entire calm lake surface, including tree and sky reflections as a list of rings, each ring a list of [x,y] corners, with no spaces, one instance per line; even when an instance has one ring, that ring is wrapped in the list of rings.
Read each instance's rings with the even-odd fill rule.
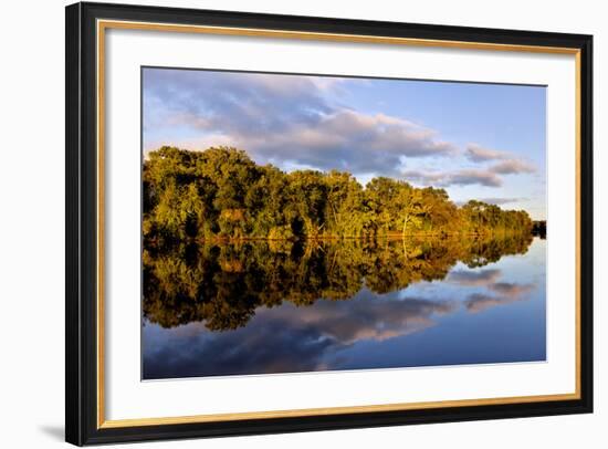
[[[144,254],[143,378],[545,361],[532,237]]]

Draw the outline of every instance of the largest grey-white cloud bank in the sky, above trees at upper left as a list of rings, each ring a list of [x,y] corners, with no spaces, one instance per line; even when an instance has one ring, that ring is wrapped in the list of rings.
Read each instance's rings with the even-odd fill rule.
[[[327,92],[340,84],[334,77],[146,71],[145,127],[182,126],[188,135],[200,134],[170,143],[188,149],[232,145],[262,164],[290,160],[355,175],[396,176],[405,158],[458,153],[434,129],[332,103]],[[145,148],[158,143],[148,139]]]

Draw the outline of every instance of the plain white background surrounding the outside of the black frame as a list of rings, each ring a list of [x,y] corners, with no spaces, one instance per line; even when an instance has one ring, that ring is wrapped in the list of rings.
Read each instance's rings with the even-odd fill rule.
[[[506,28],[595,35],[595,173],[608,170],[608,132],[604,107],[608,94],[601,82],[608,74],[608,28],[601,2],[580,0],[560,4],[547,0],[485,2],[436,0],[395,2],[376,0],[175,0],[119,1],[186,8],[226,9],[346,19],[392,20],[436,24]],[[64,337],[64,7],[59,0],[10,2],[0,28],[0,434],[2,446],[65,447],[63,442]],[[601,229],[606,205],[601,191],[608,180],[595,179],[595,228]],[[586,442],[600,448],[608,439],[608,393],[601,379],[606,362],[599,348],[608,345],[608,322],[601,272],[608,254],[606,239],[595,236],[596,413],[560,416],[340,430],[201,441],[139,443],[136,448],[352,447],[381,445],[467,449],[552,447]],[[606,352],[604,351],[606,354]],[[128,446],[128,445],[127,445]],[[126,446],[120,446],[126,447]]]

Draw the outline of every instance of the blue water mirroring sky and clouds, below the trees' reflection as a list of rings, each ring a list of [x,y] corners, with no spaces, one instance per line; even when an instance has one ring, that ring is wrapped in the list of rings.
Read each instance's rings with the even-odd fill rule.
[[[143,378],[544,361],[545,244],[388,294],[261,306],[234,331],[146,322]]]

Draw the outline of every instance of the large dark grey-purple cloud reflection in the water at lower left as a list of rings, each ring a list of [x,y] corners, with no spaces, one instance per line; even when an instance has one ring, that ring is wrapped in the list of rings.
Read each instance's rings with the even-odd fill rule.
[[[247,327],[220,333],[192,323],[172,338],[150,344],[144,377],[332,369],[342,349],[421,331],[434,324],[433,316],[458,307],[453,301],[388,296],[379,299],[364,291],[348,302],[322,300],[310,306],[261,307]],[[146,331],[154,333],[154,328]]]

